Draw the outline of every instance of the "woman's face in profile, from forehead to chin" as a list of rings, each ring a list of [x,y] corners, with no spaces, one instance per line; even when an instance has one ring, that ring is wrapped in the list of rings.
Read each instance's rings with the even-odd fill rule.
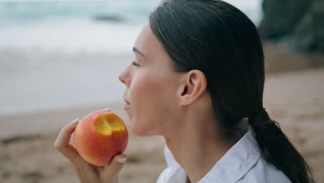
[[[124,109],[134,134],[163,134],[174,121],[178,109],[179,77],[172,61],[146,24],[134,44],[134,61],[120,73],[126,85]]]

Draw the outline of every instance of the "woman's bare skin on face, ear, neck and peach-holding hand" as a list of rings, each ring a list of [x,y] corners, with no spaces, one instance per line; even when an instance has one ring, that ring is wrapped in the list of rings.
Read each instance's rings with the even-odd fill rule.
[[[140,136],[161,135],[186,171],[187,182],[198,182],[242,137],[218,125],[206,77],[199,70],[177,73],[163,45],[146,24],[134,44],[134,61],[120,73],[129,130]],[[55,148],[69,159],[80,182],[118,182],[123,163],[116,155],[106,167],[91,166],[69,144],[74,125],[62,128]]]

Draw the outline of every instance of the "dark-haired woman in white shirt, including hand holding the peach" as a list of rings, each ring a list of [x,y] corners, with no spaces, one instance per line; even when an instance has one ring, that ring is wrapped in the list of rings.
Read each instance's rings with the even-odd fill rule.
[[[168,167],[157,182],[313,182],[263,107],[264,55],[255,25],[224,1],[164,1],[120,73],[129,129],[162,135]],[[81,182],[118,182],[126,155],[87,164],[62,128],[55,148]]]

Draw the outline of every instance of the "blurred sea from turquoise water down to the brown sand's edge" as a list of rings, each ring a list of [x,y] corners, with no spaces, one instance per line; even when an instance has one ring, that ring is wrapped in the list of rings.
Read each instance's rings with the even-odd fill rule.
[[[260,21],[260,0],[226,1]],[[123,102],[118,74],[158,4],[0,0],[0,116]]]

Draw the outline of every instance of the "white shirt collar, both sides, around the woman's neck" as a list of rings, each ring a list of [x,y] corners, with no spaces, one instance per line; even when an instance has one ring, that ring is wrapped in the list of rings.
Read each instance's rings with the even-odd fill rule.
[[[176,162],[168,146],[164,150],[165,161],[170,168],[170,175],[181,174],[186,177],[186,172]],[[236,182],[240,180],[260,159],[258,142],[255,140],[252,128],[228,150],[228,152],[213,166],[213,168],[199,180],[198,183],[207,182]]]

